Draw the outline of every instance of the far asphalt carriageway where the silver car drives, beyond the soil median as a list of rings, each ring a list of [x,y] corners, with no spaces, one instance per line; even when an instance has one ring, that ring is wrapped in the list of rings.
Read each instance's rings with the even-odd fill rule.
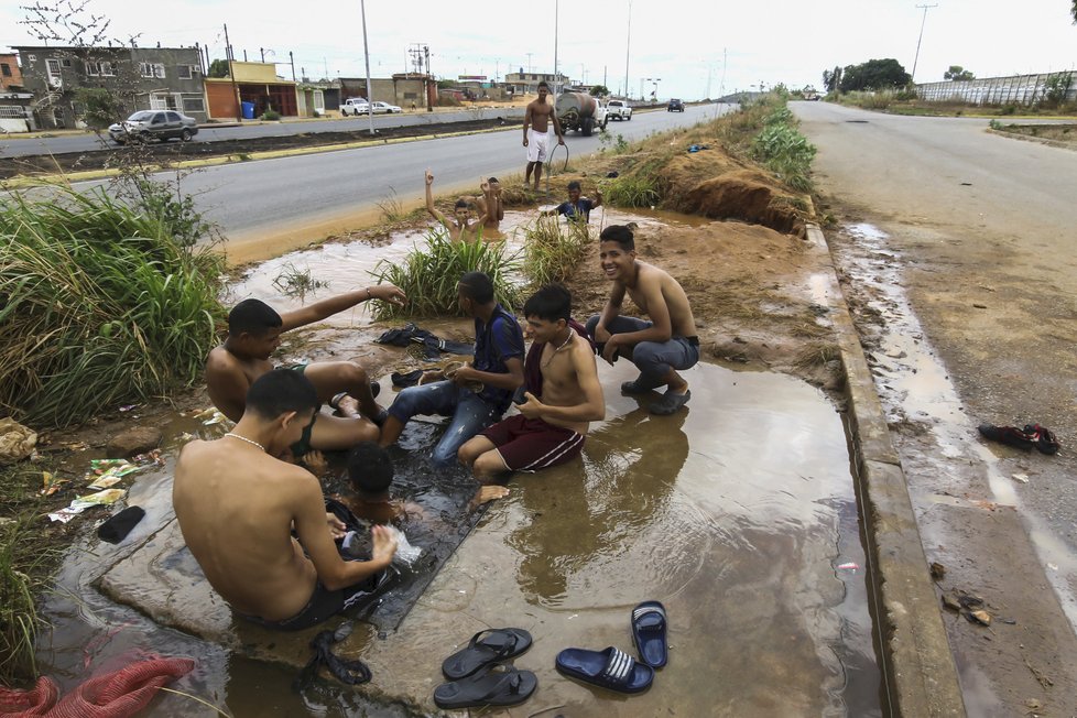
[[[490,107],[471,110],[453,110],[437,112],[406,112],[403,115],[376,115],[374,129],[380,127],[411,127],[415,124],[432,124],[435,122],[453,122],[468,119],[523,119],[522,107]],[[218,140],[246,140],[251,138],[283,137],[291,134],[317,134],[318,132],[345,132],[348,130],[370,127],[367,116],[349,117],[337,120],[318,120],[309,122],[264,122],[259,124],[238,124],[214,127],[202,126],[192,142],[216,142]],[[175,142],[176,140],[172,140]],[[63,152],[89,152],[111,146],[108,140],[98,139],[95,134],[58,134],[56,137],[19,138],[12,137],[0,141],[0,156],[18,157],[31,154],[59,154]]]

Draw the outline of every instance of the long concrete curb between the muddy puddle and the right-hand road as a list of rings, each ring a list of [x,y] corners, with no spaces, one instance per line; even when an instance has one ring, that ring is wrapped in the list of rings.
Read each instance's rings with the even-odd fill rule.
[[[817,225],[808,224],[807,233],[813,243],[829,247]],[[965,716],[901,459],[837,278],[834,287],[831,316],[846,373],[849,446],[871,565],[884,699],[894,716]]]

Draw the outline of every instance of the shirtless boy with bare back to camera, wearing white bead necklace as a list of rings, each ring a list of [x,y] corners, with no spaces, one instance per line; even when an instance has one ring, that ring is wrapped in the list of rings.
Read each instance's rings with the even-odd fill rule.
[[[341,559],[333,538],[344,524],[326,513],[318,480],[273,458],[298,440],[317,401],[300,372],[263,373],[236,428],[191,442],[176,460],[172,503],[187,547],[239,614],[270,628],[308,628],[355,605],[396,551],[374,526],[371,559]]]

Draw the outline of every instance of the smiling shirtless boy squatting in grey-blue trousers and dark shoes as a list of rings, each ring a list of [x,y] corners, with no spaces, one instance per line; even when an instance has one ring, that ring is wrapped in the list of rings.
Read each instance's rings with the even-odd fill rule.
[[[666,387],[650,410],[652,414],[672,414],[692,398],[688,382],[676,370],[699,361],[699,339],[688,297],[675,279],[635,259],[635,239],[628,227],[607,227],[599,240],[602,270],[613,289],[602,314],[587,320],[587,331],[610,365],[620,356],[639,368],[640,376],[621,384],[622,392],[645,394]],[[625,292],[650,322],[621,316]]]

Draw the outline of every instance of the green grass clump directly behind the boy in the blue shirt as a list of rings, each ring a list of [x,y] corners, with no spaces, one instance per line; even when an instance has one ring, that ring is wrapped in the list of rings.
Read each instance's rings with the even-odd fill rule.
[[[376,302],[376,320],[464,316],[456,285],[467,272],[485,272],[493,280],[494,298],[505,307],[516,304],[518,290],[509,275],[520,271],[520,260],[516,254],[505,255],[504,242],[454,242],[440,226],[432,227],[425,240],[403,261],[382,260],[371,271],[379,282],[395,284],[407,295],[404,306]]]

